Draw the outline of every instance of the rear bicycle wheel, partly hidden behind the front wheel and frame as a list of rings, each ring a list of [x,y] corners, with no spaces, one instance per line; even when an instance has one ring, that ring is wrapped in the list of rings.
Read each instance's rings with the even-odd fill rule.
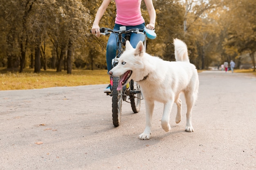
[[[139,89],[139,84],[137,82],[134,82],[133,80],[130,81],[130,90],[135,91]],[[132,106],[132,111],[134,113],[138,113],[140,109],[141,104],[141,92],[137,94],[130,95],[130,102]]]

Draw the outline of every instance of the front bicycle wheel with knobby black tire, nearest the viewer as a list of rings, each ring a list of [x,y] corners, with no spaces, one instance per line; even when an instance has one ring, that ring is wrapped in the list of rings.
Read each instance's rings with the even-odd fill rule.
[[[121,121],[121,110],[122,110],[122,94],[123,89],[117,91],[119,77],[113,77],[112,87],[112,120],[114,126],[119,126]]]

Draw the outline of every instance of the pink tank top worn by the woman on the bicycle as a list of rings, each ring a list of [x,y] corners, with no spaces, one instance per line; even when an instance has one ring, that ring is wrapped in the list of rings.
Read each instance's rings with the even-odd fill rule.
[[[141,0],[115,0],[117,16],[115,23],[124,26],[135,26],[144,23],[141,16]]]

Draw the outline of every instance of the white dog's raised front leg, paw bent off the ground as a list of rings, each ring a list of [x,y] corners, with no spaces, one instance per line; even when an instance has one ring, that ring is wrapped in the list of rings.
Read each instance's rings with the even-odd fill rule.
[[[169,124],[170,121],[170,114],[171,109],[173,106],[173,100],[169,100],[167,103],[164,104],[164,113],[161,120],[161,125],[164,131],[168,132],[171,130],[171,126]]]

